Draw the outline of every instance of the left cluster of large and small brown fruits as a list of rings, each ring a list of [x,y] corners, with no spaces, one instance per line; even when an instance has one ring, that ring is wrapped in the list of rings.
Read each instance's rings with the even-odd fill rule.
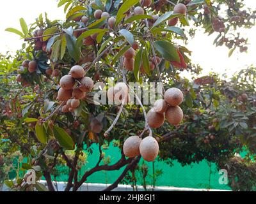
[[[84,68],[75,65],[70,69],[69,75],[61,77],[57,99],[65,101],[62,106],[63,113],[74,112],[80,105],[79,100],[85,98],[86,92],[92,91],[93,80],[84,75]]]

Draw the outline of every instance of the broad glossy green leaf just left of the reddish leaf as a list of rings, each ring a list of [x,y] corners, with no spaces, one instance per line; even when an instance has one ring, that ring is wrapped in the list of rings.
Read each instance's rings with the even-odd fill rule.
[[[154,47],[157,51],[168,61],[180,62],[179,54],[177,49],[168,41],[155,41]]]

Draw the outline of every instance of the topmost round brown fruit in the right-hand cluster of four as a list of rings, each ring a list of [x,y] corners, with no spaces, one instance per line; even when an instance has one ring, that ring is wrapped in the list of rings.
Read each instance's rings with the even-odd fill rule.
[[[183,101],[183,93],[175,87],[170,88],[164,93],[164,100],[171,106],[179,106]]]

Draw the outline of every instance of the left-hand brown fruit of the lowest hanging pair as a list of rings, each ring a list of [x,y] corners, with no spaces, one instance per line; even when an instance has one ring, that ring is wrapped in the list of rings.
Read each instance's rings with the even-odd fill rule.
[[[124,155],[132,158],[140,155],[141,138],[139,136],[129,136],[124,142]]]

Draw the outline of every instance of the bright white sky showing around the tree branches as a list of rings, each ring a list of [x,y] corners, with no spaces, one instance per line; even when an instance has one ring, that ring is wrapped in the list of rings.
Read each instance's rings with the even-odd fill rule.
[[[256,1],[244,0],[246,6],[256,9]],[[10,12],[11,10],[11,12]],[[0,52],[7,50],[15,51],[21,48],[22,40],[16,34],[4,31],[7,27],[20,29],[19,18],[23,17],[27,24],[35,21],[40,13],[48,13],[50,19],[64,19],[63,7],[57,8],[56,0],[22,0],[22,1],[3,1],[0,6]],[[232,57],[228,58],[228,48],[215,47],[212,45],[217,34],[206,36],[203,31],[198,31],[195,38],[189,41],[188,48],[193,51],[191,56],[195,64],[200,64],[204,69],[203,73],[210,71],[220,74],[232,73],[251,64],[256,65],[256,27],[241,31],[244,38],[249,38],[248,54],[234,52]]]

